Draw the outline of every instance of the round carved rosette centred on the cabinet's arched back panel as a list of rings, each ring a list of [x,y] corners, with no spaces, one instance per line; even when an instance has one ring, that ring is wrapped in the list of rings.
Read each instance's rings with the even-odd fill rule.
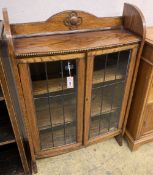
[[[79,17],[77,12],[70,12],[69,16],[64,19],[64,25],[69,27],[70,30],[77,29],[82,23],[82,17]]]

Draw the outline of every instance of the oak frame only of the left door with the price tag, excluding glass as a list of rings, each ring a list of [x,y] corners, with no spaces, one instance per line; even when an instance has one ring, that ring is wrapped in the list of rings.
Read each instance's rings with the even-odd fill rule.
[[[70,60],[76,59],[77,64],[77,80],[78,80],[78,88],[77,88],[77,142],[74,144],[64,145],[55,148],[40,148],[40,138],[39,131],[37,127],[36,121],[36,111],[33,101],[33,92],[32,92],[32,82],[29,70],[30,63],[40,63],[40,62],[53,62],[60,60]],[[40,157],[48,157],[58,155],[64,152],[68,152],[70,150],[76,149],[76,147],[80,147],[82,145],[83,138],[83,107],[84,107],[84,82],[85,82],[85,54],[69,54],[69,55],[57,55],[57,56],[48,56],[48,57],[38,57],[28,59],[20,59],[18,62],[18,70],[20,75],[20,81],[23,91],[24,103],[27,111],[28,118],[28,128],[32,135],[33,147],[35,151],[35,155],[37,158]],[[31,117],[33,116],[33,117]]]

